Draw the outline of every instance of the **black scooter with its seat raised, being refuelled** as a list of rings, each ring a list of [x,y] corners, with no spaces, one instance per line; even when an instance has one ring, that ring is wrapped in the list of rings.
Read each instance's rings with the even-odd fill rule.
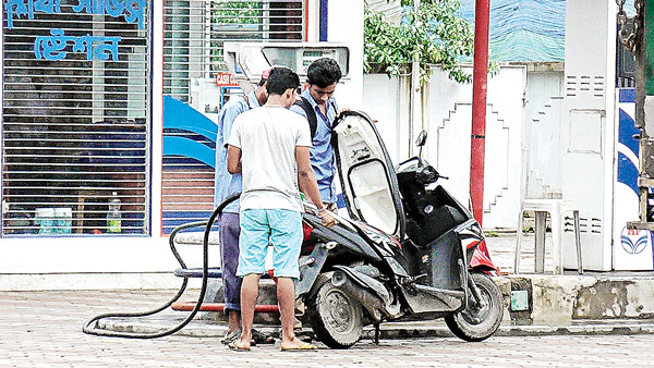
[[[295,294],[316,338],[348,348],[365,326],[445,318],[465,341],[497,331],[502,294],[482,267],[471,268],[484,241],[471,212],[443,186],[421,155],[393,168],[372,120],[347,111],[334,123],[334,147],[349,219],[322,225],[305,204]]]

